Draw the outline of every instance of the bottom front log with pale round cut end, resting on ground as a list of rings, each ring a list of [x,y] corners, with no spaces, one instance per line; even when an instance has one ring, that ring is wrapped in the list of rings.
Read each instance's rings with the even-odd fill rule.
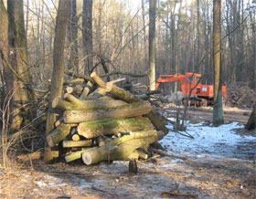
[[[147,147],[149,144],[154,143],[163,137],[164,133],[159,132],[159,134],[157,133],[157,135],[147,137],[146,139],[142,138],[124,141],[119,146],[104,145],[89,152],[83,152],[82,161],[87,165],[101,161],[128,161],[130,155],[133,154],[136,149]]]

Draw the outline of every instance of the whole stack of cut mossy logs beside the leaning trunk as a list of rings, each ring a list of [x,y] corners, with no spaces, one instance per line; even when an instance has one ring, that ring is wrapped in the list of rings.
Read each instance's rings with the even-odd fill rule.
[[[67,162],[146,159],[149,144],[168,133],[150,102],[115,83],[105,83],[93,72],[83,89],[68,87],[64,99],[52,101],[52,108],[64,113],[47,141],[50,147],[62,143]]]

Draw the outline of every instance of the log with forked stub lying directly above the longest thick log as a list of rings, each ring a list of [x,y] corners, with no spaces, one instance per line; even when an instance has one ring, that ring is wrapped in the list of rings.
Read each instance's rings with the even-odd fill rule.
[[[77,99],[75,96],[66,93],[64,95],[69,101],[55,98],[52,101],[52,107],[59,110],[99,110],[112,107],[118,107],[126,104],[123,100],[109,100],[109,99]]]

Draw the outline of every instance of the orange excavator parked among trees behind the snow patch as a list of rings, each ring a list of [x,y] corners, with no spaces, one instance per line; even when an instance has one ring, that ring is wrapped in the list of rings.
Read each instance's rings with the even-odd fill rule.
[[[188,98],[189,91],[192,89],[189,99],[190,104],[195,104],[197,106],[213,105],[213,85],[202,85],[200,81],[201,77],[201,74],[196,73],[186,73],[186,75],[160,75],[156,80],[155,89],[158,89],[161,83],[179,81],[183,93],[183,102],[184,99]],[[227,97],[226,86],[222,86],[222,97]]]

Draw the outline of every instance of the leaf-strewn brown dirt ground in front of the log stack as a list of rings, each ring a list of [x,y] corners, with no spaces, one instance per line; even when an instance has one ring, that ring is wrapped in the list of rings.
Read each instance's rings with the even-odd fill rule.
[[[174,108],[165,107],[172,117]],[[246,123],[251,110],[225,109],[226,122]],[[210,122],[210,108],[190,108],[191,122]],[[251,134],[240,130],[238,133]],[[246,144],[255,149],[256,143]],[[197,194],[197,198],[256,198],[256,165],[253,159],[230,158],[195,152],[170,152],[186,157],[158,157],[138,162],[138,173],[128,173],[128,162],[102,162],[85,166],[82,162],[42,161],[14,163],[0,167],[0,198],[188,198],[162,192]],[[243,146],[238,152],[246,152]],[[256,152],[255,152],[256,153]]]

